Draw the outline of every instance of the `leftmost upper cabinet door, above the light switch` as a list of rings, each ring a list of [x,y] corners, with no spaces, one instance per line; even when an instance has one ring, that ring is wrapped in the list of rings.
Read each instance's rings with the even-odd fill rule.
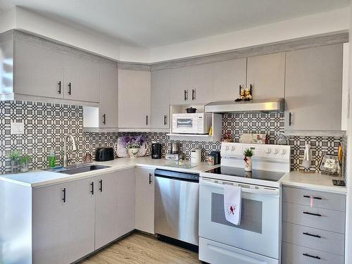
[[[63,98],[64,65],[63,54],[16,40],[15,93]]]

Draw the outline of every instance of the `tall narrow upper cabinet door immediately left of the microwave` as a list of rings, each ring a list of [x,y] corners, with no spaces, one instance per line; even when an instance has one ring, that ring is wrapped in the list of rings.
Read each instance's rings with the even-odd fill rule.
[[[151,127],[170,127],[169,70],[151,73]]]

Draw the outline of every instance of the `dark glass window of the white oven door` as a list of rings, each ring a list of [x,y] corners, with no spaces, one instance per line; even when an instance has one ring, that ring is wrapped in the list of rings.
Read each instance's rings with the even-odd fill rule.
[[[233,225],[225,218],[224,195],[211,194],[211,221],[221,225],[228,225],[234,228],[249,230],[258,234],[262,233],[263,202],[251,199],[241,199],[241,223]]]

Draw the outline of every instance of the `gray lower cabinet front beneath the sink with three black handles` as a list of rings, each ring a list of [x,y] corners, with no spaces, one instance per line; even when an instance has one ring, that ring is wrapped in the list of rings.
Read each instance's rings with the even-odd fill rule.
[[[73,263],[134,230],[134,168],[32,191],[32,263]]]

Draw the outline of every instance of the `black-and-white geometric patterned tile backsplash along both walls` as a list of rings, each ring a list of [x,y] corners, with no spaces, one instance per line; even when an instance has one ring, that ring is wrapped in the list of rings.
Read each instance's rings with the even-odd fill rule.
[[[12,122],[25,122],[24,134],[11,134]],[[283,113],[231,113],[222,116],[222,132],[230,133],[234,142],[239,141],[242,133],[267,133],[270,144],[277,143],[277,133],[284,132]],[[25,101],[0,101],[0,174],[11,172],[11,163],[6,157],[9,151],[17,149],[32,157],[30,169],[46,167],[46,155],[51,149],[56,151],[57,163],[63,157],[63,139],[66,134],[73,134],[77,151],[68,154],[73,161],[81,162],[84,153],[92,153],[100,146],[113,146],[122,134],[137,133],[93,133],[83,132],[82,106],[70,106],[56,103],[34,103]],[[140,133],[139,133],[140,134]],[[163,154],[170,149],[172,140],[166,133],[148,132],[147,142],[160,142]],[[180,151],[189,158],[189,151],[202,149],[202,159],[212,150],[220,150],[220,142],[177,141]],[[291,170],[299,170],[305,144],[312,146],[312,170],[318,170],[320,159],[325,153],[337,153],[342,137],[289,137],[291,145]],[[147,155],[150,154],[150,148]]]

